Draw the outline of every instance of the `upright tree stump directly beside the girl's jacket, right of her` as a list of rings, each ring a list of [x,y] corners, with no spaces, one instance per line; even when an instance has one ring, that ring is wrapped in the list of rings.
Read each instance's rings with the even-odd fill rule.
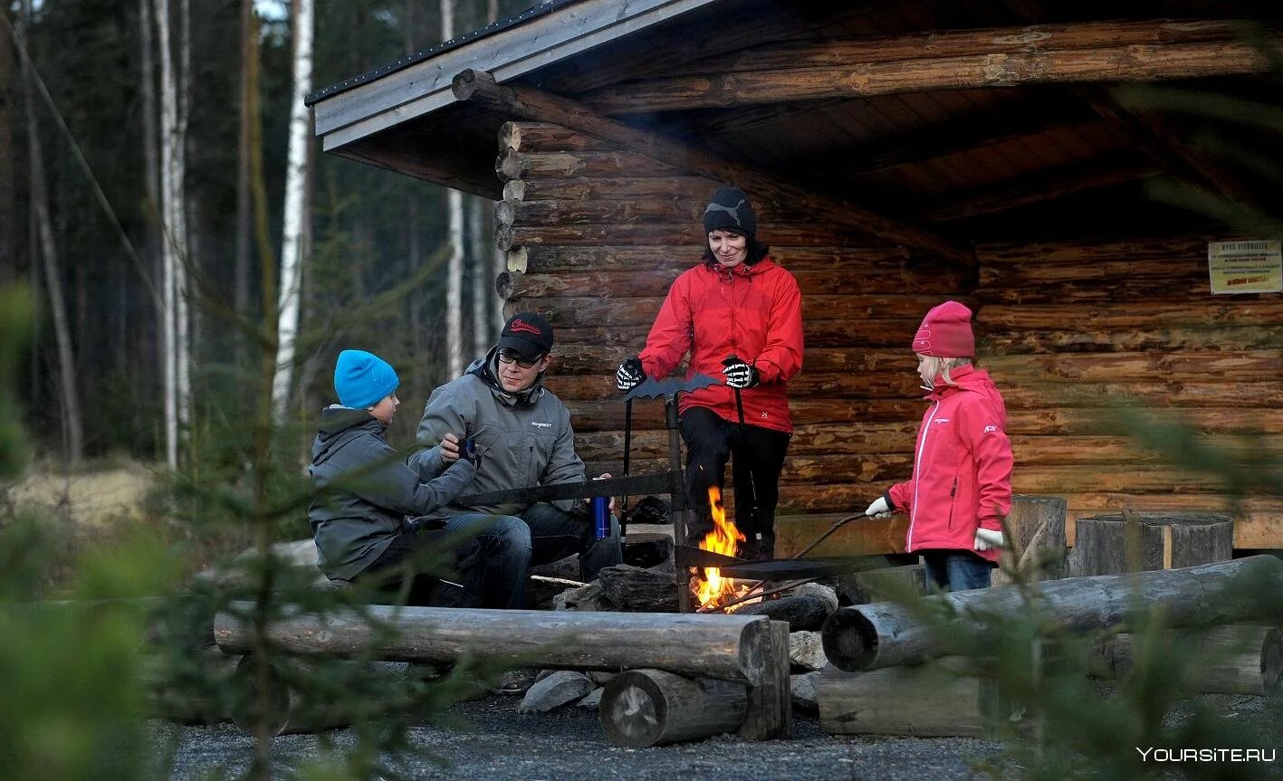
[[[1017,494],[1011,498],[1010,549],[1002,551],[1002,566],[993,573],[994,586],[1015,582],[1012,573],[1020,573],[1025,582],[1065,577],[1066,508],[1067,503],[1060,496]]]

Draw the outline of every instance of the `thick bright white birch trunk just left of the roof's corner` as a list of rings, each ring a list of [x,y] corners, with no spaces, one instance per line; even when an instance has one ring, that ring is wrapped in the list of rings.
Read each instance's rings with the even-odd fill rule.
[[[276,328],[276,376],[272,378],[272,417],[285,419],[294,380],[294,341],[299,332],[303,290],[304,223],[308,186],[308,108],[312,90],[312,0],[294,0],[294,96],[290,103],[290,141],[285,172],[285,213],[281,236],[281,277]]]

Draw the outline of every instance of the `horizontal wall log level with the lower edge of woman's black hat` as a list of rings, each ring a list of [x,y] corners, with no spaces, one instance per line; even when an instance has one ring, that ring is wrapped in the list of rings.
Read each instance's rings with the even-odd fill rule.
[[[554,246],[581,246],[594,244],[631,245],[671,245],[688,244],[702,246],[707,240],[704,228],[698,222],[645,223],[645,224],[550,224],[550,226],[506,226],[495,227],[495,239],[500,250],[511,250],[526,244],[547,244]],[[834,246],[842,244],[867,244],[858,231],[837,223],[772,223],[760,224],[758,237],[767,244],[777,241],[802,246]]]

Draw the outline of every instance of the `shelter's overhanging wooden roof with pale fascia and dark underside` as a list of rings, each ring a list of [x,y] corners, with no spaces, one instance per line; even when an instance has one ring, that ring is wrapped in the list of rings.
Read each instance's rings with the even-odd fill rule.
[[[513,117],[450,92],[466,68],[905,226],[893,242],[1157,235],[1192,226],[1147,195],[1156,177],[1248,203],[1273,194],[1201,151],[1200,119],[1137,109],[1117,87],[1278,103],[1241,21],[1270,29],[1280,6],[562,1],[313,105],[327,151],[491,199],[495,133]]]

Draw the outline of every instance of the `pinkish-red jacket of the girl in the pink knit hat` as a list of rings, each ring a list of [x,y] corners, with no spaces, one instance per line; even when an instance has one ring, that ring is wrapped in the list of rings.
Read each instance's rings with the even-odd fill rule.
[[[1007,408],[989,373],[970,365],[937,380],[928,394],[913,453],[913,477],[892,486],[896,509],[908,512],[907,550],[975,550],[978,527],[1002,531],[1011,512],[1011,440]],[[990,562],[998,550],[976,551]]]

